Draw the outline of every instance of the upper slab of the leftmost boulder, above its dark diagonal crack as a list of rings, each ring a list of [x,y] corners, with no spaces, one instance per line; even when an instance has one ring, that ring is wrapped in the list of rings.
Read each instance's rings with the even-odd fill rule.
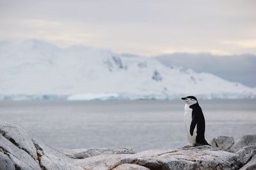
[[[29,153],[34,159],[37,159],[35,145],[24,129],[17,125],[0,122],[0,134],[18,148]]]

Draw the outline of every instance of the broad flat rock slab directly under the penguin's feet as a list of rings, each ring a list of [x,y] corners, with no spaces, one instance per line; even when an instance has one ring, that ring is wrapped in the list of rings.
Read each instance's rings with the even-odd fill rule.
[[[159,151],[157,151],[159,152]],[[149,169],[238,169],[237,155],[210,146],[166,150],[162,153],[137,153],[136,164]],[[145,156],[143,156],[145,155]],[[147,155],[147,156],[146,156]]]

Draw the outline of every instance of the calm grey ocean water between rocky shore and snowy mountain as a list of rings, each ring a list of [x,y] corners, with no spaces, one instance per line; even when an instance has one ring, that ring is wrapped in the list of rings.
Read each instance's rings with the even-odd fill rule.
[[[256,134],[256,100],[201,100],[205,138]],[[0,121],[55,148],[189,145],[184,101],[0,101]]]

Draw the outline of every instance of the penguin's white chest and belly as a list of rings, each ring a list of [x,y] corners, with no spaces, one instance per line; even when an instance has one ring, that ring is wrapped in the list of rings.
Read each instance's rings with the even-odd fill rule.
[[[193,136],[191,136],[189,131],[190,131],[190,125],[192,122],[192,109],[189,108],[188,104],[185,104],[185,108],[184,108],[184,122],[185,122],[185,129],[186,129],[188,141],[192,145],[195,145],[196,144],[196,127],[194,129]]]

